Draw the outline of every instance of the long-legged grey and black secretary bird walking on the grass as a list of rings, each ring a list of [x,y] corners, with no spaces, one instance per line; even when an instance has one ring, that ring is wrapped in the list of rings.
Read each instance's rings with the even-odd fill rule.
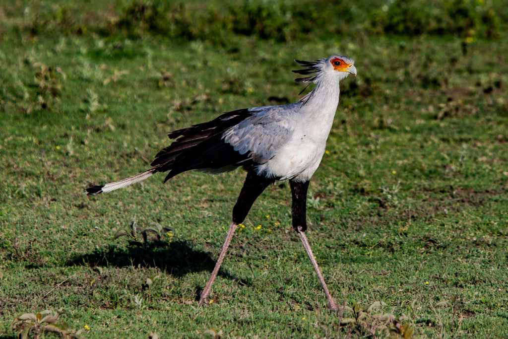
[[[233,233],[244,221],[254,201],[276,180],[289,180],[293,198],[293,228],[314,266],[330,309],[338,310],[305,236],[306,200],[310,177],[321,163],[332,128],[339,102],[339,82],[350,73],[356,77],[355,61],[342,55],[332,55],[315,62],[295,61],[305,68],[293,72],[307,75],[295,81],[315,83],[315,88],[300,101],[239,109],[211,121],[170,132],[169,138],[176,141],[157,153],[151,163],[152,168],[130,178],[86,189],[88,195],[111,192],[158,172],[169,171],[166,182],[189,170],[223,173],[237,167],[245,169],[247,175],[233,207],[231,226],[215,268],[201,293],[200,305],[208,303],[208,295]]]

